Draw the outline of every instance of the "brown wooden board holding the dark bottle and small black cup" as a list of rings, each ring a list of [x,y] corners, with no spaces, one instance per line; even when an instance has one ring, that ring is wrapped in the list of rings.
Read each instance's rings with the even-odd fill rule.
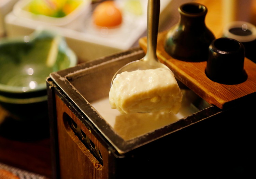
[[[248,75],[245,82],[236,85],[216,83],[205,75],[206,61],[185,62],[169,56],[164,49],[166,33],[167,31],[158,34],[157,56],[159,60],[173,71],[177,79],[201,98],[221,109],[255,100],[256,63],[245,58],[244,69]],[[141,38],[139,45],[146,52],[147,38]]]

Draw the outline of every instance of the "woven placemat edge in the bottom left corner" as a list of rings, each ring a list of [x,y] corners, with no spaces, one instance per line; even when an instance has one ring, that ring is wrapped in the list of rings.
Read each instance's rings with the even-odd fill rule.
[[[22,170],[16,167],[12,167],[3,163],[0,163],[0,168],[10,171],[11,173],[17,175],[20,179],[49,179],[45,176],[35,174],[26,170]]]

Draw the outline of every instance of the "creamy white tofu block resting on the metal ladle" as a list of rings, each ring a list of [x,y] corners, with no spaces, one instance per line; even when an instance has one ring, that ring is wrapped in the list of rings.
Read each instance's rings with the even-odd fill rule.
[[[120,73],[109,92],[111,108],[121,114],[159,110],[177,114],[181,101],[182,92],[174,74],[166,68]]]

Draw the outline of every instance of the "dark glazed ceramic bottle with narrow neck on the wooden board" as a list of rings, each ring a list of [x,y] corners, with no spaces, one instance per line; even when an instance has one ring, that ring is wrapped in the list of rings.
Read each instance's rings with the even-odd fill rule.
[[[208,47],[215,39],[205,25],[207,8],[199,3],[185,3],[178,10],[180,21],[167,33],[166,52],[183,61],[206,61]]]

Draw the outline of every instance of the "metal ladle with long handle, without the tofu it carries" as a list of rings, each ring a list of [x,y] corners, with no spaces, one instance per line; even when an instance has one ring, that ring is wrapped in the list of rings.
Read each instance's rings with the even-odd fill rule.
[[[160,0],[148,0],[146,55],[142,59],[127,63],[122,68],[120,68],[113,76],[111,81],[111,86],[113,84],[113,80],[115,79],[116,75],[125,71],[131,72],[135,70],[168,68],[165,64],[161,63],[156,56],[159,13],[160,13]]]

